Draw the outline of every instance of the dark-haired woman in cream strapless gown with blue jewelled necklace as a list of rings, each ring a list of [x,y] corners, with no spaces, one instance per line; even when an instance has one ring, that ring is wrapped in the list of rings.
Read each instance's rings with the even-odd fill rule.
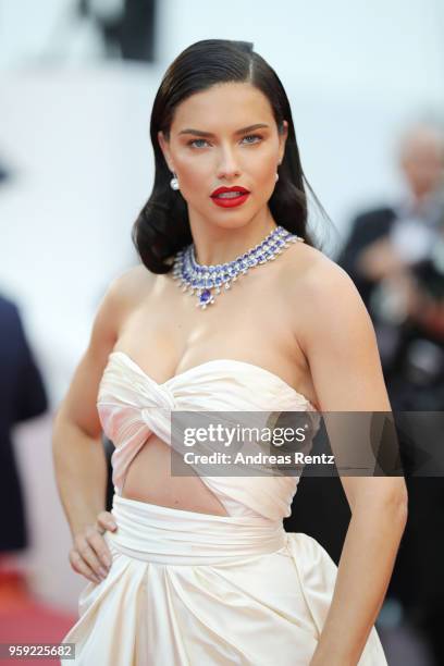
[[[298,477],[171,473],[175,410],[390,411],[367,310],[307,231],[282,84],[251,45],[199,41],[161,83],[151,140],[143,263],[106,294],[54,422],[70,562],[90,581],[64,640],[101,666],[386,664],[373,622],[403,479],[342,479],[353,518],[336,570],[283,531]]]

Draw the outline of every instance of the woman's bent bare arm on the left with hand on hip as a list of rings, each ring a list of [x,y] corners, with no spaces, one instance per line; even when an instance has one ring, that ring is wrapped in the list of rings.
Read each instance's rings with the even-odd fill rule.
[[[108,355],[131,306],[128,283],[133,271],[114,280],[108,288],[88,348],[53,422],[55,479],[73,536],[70,563],[76,572],[94,582],[103,579],[111,565],[102,533],[115,529],[112,514],[104,510],[107,466],[96,403]]]

